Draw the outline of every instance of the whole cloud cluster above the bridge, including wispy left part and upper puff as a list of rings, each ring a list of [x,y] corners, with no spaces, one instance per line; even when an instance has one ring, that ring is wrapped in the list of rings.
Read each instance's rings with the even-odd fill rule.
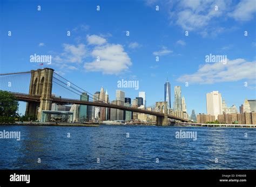
[[[86,35],[83,44],[63,44],[63,53],[53,57],[63,71],[85,69],[103,74],[118,75],[132,65],[129,55],[120,44],[110,44],[102,35]]]

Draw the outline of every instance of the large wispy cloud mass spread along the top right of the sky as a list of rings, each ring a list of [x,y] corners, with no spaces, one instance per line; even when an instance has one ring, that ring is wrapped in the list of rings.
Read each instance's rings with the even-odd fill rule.
[[[184,31],[193,31],[203,37],[215,37],[220,33],[232,31],[225,26],[228,17],[247,21],[256,12],[255,0],[158,0],[146,1],[146,5],[160,5],[167,11],[171,24],[176,24]],[[217,8],[218,10],[215,10]]]

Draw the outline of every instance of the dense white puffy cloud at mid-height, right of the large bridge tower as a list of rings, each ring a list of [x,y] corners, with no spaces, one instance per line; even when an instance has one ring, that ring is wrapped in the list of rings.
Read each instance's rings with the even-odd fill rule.
[[[124,52],[123,46],[119,44],[97,46],[91,55],[96,60],[84,64],[87,71],[102,71],[103,74],[118,75],[132,65],[130,57]],[[100,58],[99,61],[97,61],[97,56]]]

